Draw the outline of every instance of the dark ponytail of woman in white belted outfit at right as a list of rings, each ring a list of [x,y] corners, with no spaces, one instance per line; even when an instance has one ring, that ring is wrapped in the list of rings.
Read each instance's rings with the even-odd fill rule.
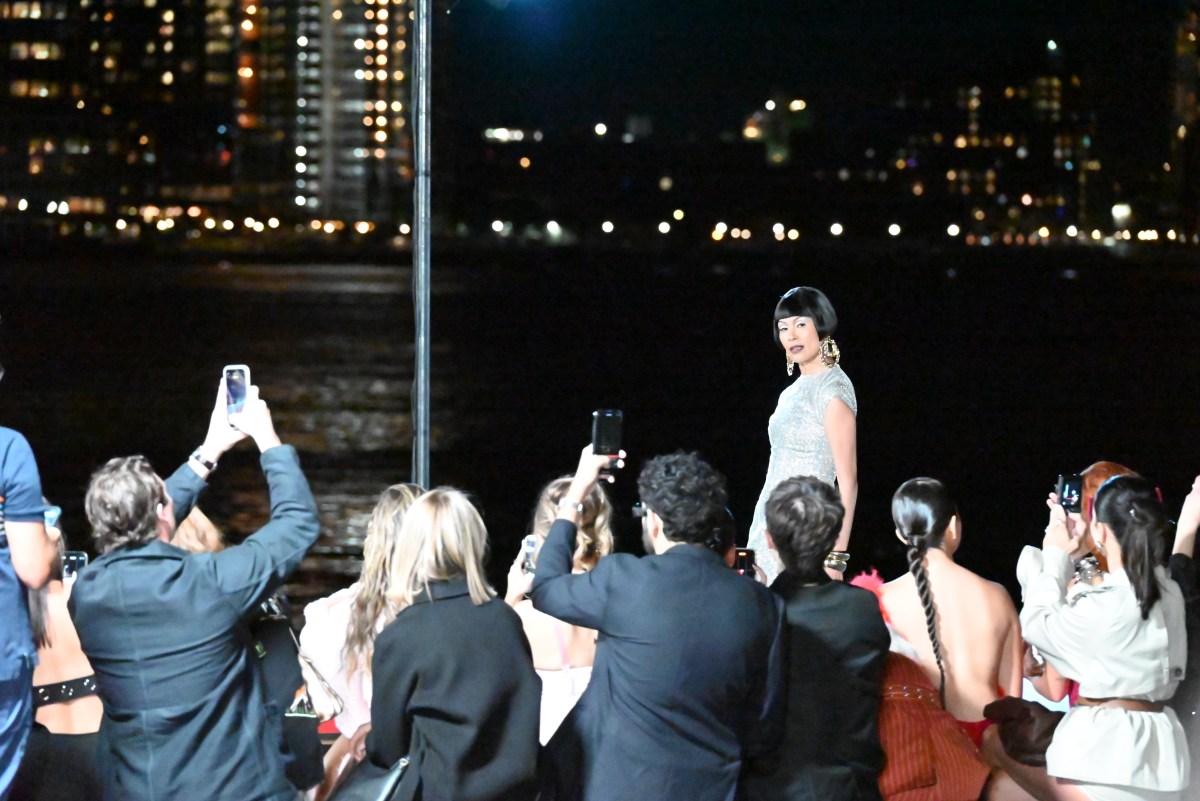
[[[1163,564],[1166,512],[1158,490],[1145,478],[1118,476],[1096,492],[1093,518],[1112,529],[1121,546],[1126,576],[1133,586],[1142,620],[1162,597],[1154,568]]]

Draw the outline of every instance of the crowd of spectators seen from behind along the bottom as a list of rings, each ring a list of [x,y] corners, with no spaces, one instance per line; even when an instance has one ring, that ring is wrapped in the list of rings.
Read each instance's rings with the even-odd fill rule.
[[[270,520],[226,547],[196,505],[245,439]],[[647,555],[614,553],[602,484],[623,458],[588,446],[545,488],[503,595],[466,494],[389,487],[359,580],[268,642],[319,526],[257,387],[233,414],[218,390],[168,478],[137,456],[96,470],[77,574],[31,448],[0,428],[0,801],[338,801],[388,781],[427,801],[1200,796],[1200,477],[1174,524],[1123,468],[1085,471],[1078,513],[1051,494],[1018,610],[955,562],[940,481],[895,492],[908,572],[887,583],[830,577],[842,498],[781,481],[768,588],[731,570],[726,478],[695,453],[643,464]],[[319,717],[340,733],[323,760]]]

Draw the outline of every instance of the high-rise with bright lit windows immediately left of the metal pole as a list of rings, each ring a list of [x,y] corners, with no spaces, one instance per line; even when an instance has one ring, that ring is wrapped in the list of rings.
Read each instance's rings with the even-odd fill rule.
[[[300,0],[294,197],[313,216],[390,222],[412,185],[408,0]]]

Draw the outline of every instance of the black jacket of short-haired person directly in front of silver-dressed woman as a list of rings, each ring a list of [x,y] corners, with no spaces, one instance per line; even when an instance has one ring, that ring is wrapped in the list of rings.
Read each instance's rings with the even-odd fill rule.
[[[750,761],[751,801],[880,801],[880,676],[890,637],[874,592],[814,586],[785,572],[770,588],[787,618],[787,727]]]

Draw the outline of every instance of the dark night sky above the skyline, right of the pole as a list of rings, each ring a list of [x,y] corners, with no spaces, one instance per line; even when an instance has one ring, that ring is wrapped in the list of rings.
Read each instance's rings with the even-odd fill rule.
[[[464,127],[583,130],[628,113],[656,132],[737,130],[773,89],[822,104],[1019,83],[1046,41],[1085,82],[1109,144],[1158,135],[1170,103],[1164,0],[457,0],[436,84]],[[443,10],[446,6],[443,6]],[[442,48],[438,50],[438,48]],[[434,102],[438,102],[436,100]]]

